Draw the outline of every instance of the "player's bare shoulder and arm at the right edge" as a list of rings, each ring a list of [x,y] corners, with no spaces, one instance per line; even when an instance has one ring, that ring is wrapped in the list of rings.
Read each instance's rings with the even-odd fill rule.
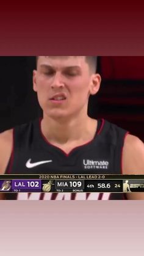
[[[128,134],[123,147],[123,174],[144,174],[144,144],[138,137]],[[128,193],[128,199],[143,200],[143,193]]]

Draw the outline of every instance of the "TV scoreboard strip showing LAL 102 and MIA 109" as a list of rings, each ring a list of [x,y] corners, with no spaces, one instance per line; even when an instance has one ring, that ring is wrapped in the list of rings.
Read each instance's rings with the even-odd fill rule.
[[[0,192],[144,192],[144,175],[0,175]]]

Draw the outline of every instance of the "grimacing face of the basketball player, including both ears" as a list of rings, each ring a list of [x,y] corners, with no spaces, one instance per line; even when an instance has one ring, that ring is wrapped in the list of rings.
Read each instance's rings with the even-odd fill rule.
[[[87,114],[88,97],[101,82],[85,56],[39,56],[33,80],[43,113],[53,119]]]

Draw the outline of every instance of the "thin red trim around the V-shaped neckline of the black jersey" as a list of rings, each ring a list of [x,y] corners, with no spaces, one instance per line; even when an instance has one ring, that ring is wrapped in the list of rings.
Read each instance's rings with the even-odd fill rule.
[[[42,133],[42,131],[41,131],[41,120],[42,120],[42,118],[39,119],[40,133],[41,133],[41,136],[43,137],[43,139],[45,140],[45,142],[46,142],[47,144],[49,144],[49,145],[52,145],[53,147],[58,148],[58,149],[59,149],[65,156],[67,156],[67,157],[70,156],[70,154],[71,154],[74,150],[76,150],[76,148],[80,148],[80,147],[83,147],[83,146],[85,146],[85,145],[88,145],[88,144],[90,144],[90,143],[93,141],[93,139],[94,139],[94,138],[93,138],[91,141],[88,141],[88,142],[85,143],[85,144],[82,144],[82,145],[80,145],[80,146],[74,147],[69,153],[66,153],[66,152],[64,152],[61,148],[59,148],[59,147],[57,147],[57,146],[51,144],[51,142],[49,142],[48,139],[46,139],[46,137],[43,135],[43,133]],[[99,135],[99,134],[101,133],[101,131],[103,130],[103,126],[104,126],[104,119],[102,119],[101,126],[100,126],[100,128],[99,128],[99,131],[96,132],[97,135]]]

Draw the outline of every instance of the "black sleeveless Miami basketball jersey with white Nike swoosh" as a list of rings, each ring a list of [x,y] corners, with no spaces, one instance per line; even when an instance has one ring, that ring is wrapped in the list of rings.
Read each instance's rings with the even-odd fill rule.
[[[121,156],[127,131],[98,120],[92,141],[66,154],[41,132],[41,119],[13,128],[13,151],[5,174],[121,174]],[[18,193],[7,199],[112,200],[123,193]]]

